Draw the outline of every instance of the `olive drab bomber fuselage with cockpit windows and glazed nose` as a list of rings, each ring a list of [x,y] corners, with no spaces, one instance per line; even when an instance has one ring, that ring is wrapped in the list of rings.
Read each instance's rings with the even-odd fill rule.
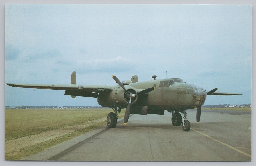
[[[170,80],[152,80],[131,83],[129,85],[138,89],[142,89],[143,87],[146,89],[153,86],[156,88],[149,92],[146,97],[145,105],[148,106],[164,110],[183,110],[197,108],[204,104],[206,93],[203,88],[184,82],[173,83],[172,85],[166,83],[166,86],[161,83]],[[196,93],[197,91],[198,93]]]

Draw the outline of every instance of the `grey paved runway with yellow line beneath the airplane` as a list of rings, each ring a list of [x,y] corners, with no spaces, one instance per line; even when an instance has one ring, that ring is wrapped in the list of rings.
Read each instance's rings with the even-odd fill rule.
[[[68,141],[25,160],[251,161],[250,111],[202,110],[200,124],[196,124],[196,110],[187,113],[189,132],[173,126],[167,111],[132,115],[127,125],[121,120],[115,129],[105,126],[98,134],[89,132],[90,138],[81,137],[61,153],[56,148],[68,147]],[[57,154],[42,157],[54,150]]]

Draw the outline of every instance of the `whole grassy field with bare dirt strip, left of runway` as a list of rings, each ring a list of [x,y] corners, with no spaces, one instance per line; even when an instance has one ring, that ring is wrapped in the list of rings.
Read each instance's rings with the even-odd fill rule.
[[[5,160],[19,160],[61,142],[77,137],[85,132],[106,125],[106,117],[112,109],[6,109],[5,110]],[[118,114],[124,117],[124,111]],[[97,119],[99,121],[97,121]],[[104,119],[104,121],[102,121]],[[86,124],[86,125],[85,125]],[[75,127],[74,127],[75,126]],[[56,138],[17,148],[40,134],[68,131]],[[58,131],[58,132],[57,132]],[[25,140],[25,141],[24,141]],[[14,147],[13,150],[9,150]],[[8,149],[8,150],[7,150]]]

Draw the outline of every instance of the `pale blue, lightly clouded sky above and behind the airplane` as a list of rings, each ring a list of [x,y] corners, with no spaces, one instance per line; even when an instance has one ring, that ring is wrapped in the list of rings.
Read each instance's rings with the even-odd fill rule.
[[[250,5],[5,5],[5,83],[116,85],[181,78],[204,105],[251,103]],[[100,106],[63,90],[5,84],[5,106]]]

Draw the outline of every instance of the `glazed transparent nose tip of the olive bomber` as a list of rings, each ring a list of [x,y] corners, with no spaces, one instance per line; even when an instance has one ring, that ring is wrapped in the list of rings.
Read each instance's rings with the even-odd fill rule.
[[[193,102],[194,102],[194,107],[201,107],[206,99],[206,92],[203,88],[196,88],[193,91]]]

